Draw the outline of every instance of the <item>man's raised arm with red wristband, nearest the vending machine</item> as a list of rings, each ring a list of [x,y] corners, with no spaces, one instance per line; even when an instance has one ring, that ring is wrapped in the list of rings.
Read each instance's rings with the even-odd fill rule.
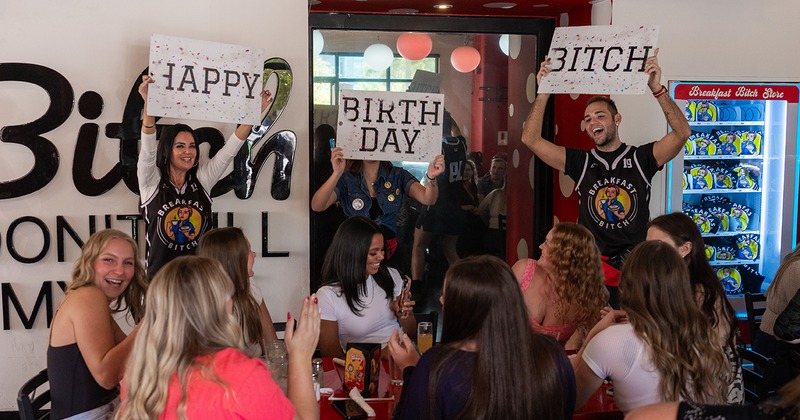
[[[653,156],[656,158],[658,166],[661,166],[680,153],[686,140],[692,135],[692,128],[689,127],[689,122],[686,121],[686,115],[669,96],[667,88],[661,84],[658,48],[656,48],[655,55],[647,59],[644,71],[649,75],[647,86],[653,92],[653,96],[656,97],[661,111],[664,112],[667,124],[672,128],[672,131],[653,145]]]

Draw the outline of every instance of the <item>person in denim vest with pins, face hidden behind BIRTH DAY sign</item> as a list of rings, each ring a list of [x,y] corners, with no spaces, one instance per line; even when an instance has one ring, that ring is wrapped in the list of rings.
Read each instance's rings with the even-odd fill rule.
[[[349,163],[349,169],[347,165]],[[414,175],[391,162],[354,160],[346,162],[340,147],[331,149],[333,174],[311,198],[311,209],[325,211],[339,201],[347,217],[367,217],[380,226],[386,238],[386,258],[397,249],[397,213],[406,194],[422,205],[433,205],[439,197],[436,177],[444,172],[444,156],[428,165],[422,186]]]

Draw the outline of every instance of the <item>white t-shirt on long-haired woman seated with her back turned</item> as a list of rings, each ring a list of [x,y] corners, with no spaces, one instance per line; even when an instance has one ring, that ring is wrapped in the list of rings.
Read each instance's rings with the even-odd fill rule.
[[[614,401],[623,412],[663,401],[659,391],[661,375],[631,324],[616,324],[600,331],[586,345],[583,361],[598,377],[611,378]]]

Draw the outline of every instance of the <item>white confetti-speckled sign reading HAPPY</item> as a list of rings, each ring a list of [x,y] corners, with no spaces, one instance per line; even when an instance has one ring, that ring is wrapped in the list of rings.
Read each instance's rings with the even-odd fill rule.
[[[258,124],[264,50],[154,34],[147,112],[159,117]]]

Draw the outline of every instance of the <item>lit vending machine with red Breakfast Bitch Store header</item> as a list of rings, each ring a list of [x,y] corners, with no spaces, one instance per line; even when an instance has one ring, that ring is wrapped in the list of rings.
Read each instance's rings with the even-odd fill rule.
[[[798,85],[672,82],[692,135],[668,166],[668,211],[697,224],[738,313],[797,243]]]

